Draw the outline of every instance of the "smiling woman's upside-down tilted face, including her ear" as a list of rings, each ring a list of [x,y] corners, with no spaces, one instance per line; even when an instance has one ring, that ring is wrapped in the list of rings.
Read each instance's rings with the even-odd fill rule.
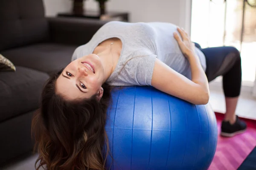
[[[103,93],[103,83],[102,62],[96,54],[89,54],[70,62],[64,68],[56,80],[56,93],[71,100],[90,98],[96,93]]]

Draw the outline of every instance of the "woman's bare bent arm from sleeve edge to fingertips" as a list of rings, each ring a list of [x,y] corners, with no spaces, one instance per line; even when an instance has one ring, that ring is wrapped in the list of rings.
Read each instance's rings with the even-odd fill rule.
[[[185,31],[178,28],[182,40],[177,33],[174,34],[180,50],[189,60],[192,80],[187,79],[182,74],[177,73],[160,60],[156,60],[154,65],[151,85],[160,91],[172,96],[184,99],[196,105],[207,104],[209,101],[208,80],[204,73],[198,56],[195,54],[193,44]]]

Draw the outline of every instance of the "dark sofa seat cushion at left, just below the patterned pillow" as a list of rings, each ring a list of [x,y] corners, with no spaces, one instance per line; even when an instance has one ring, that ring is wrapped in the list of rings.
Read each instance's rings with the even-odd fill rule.
[[[15,72],[0,72],[0,122],[39,107],[46,73],[16,66]]]

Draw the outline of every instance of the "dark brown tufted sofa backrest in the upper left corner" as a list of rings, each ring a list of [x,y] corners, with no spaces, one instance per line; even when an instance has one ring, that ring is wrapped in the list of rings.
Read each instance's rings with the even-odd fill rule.
[[[0,51],[48,37],[42,0],[0,0]]]

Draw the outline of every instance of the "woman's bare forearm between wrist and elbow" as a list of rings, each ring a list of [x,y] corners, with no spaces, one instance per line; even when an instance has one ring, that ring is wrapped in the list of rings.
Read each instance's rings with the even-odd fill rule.
[[[187,58],[189,60],[191,68],[192,82],[195,82],[196,84],[200,85],[204,92],[209,93],[208,80],[201,66],[198,56],[196,56],[195,53],[191,53]]]

